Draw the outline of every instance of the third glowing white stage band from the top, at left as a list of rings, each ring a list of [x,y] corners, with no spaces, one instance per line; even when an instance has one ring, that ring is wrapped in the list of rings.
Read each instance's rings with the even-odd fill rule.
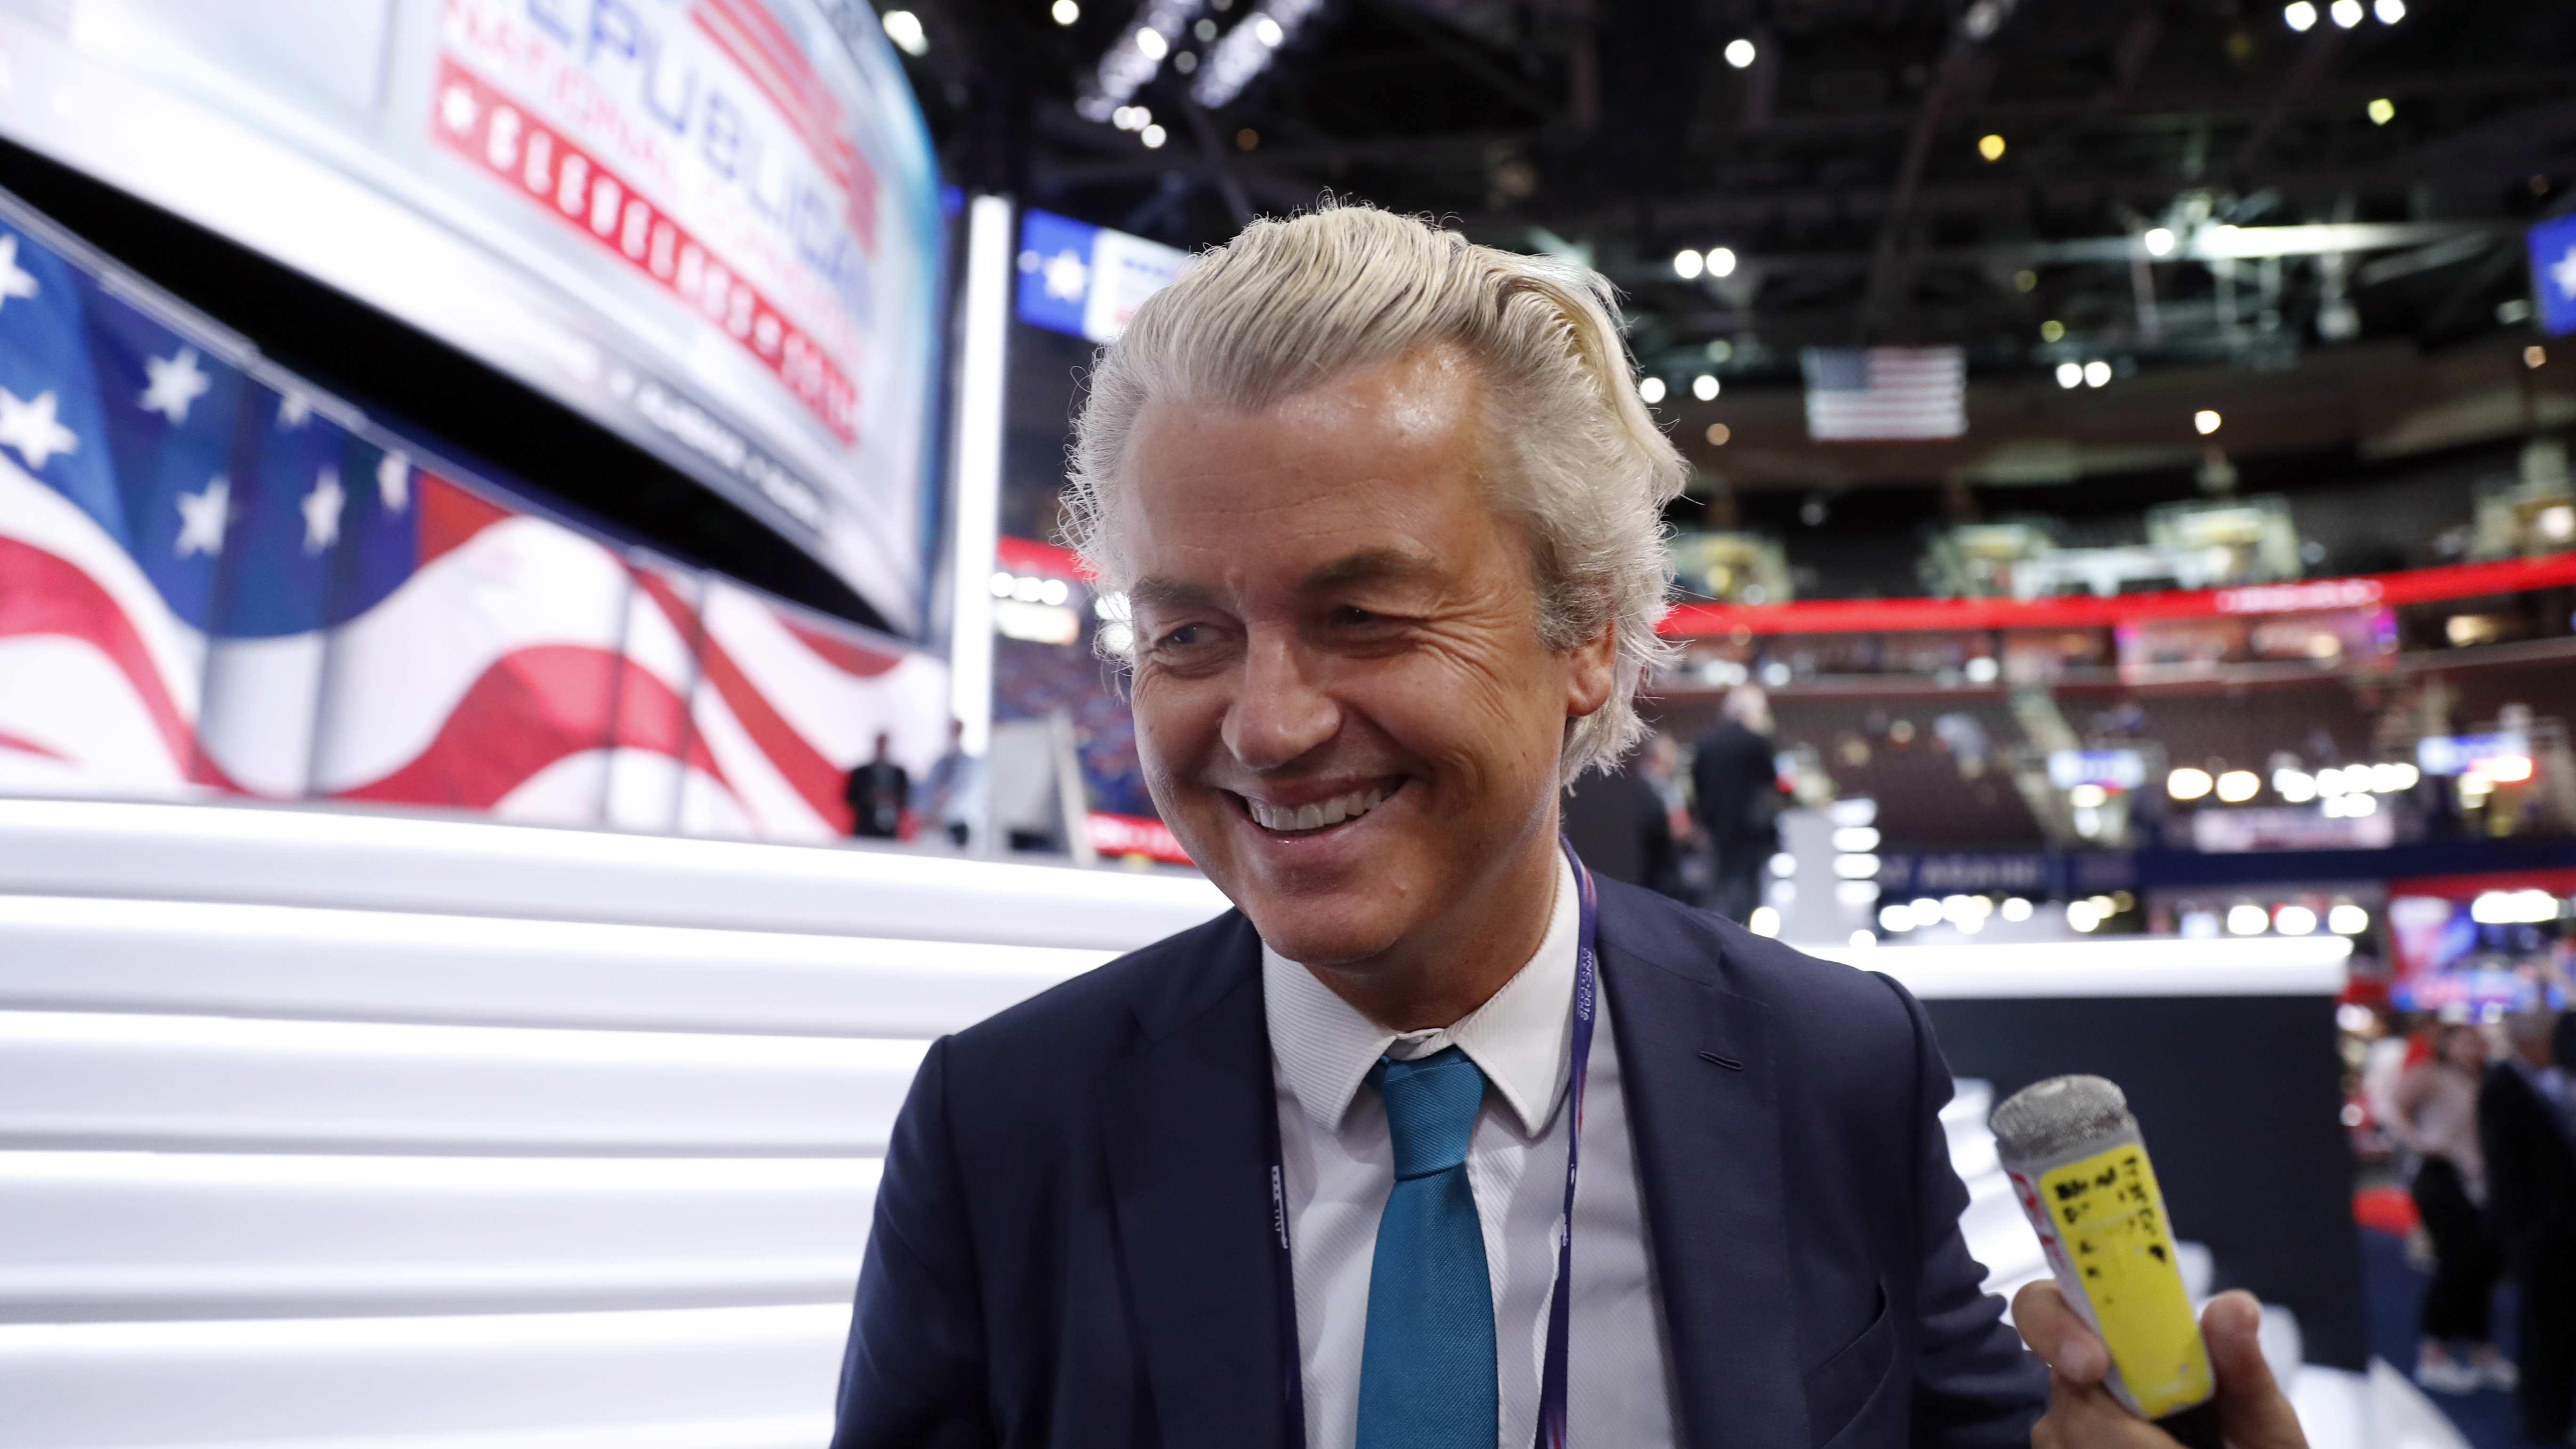
[[[0,1145],[871,1155],[922,1042],[0,1011]]]

